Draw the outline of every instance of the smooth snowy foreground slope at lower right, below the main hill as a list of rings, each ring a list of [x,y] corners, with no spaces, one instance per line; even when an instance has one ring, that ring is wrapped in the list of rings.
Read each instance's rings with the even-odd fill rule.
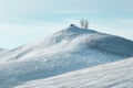
[[[28,81],[16,88],[133,88],[133,58]]]

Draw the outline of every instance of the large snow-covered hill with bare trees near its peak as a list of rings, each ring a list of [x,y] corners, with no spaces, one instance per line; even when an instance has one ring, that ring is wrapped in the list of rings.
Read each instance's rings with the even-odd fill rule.
[[[132,56],[132,41],[69,26],[0,55],[0,88]]]

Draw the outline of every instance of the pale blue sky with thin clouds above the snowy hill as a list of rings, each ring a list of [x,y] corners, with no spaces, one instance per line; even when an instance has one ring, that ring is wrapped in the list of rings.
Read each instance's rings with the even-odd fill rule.
[[[82,18],[96,31],[133,40],[133,0],[0,0],[0,47],[42,38]]]

